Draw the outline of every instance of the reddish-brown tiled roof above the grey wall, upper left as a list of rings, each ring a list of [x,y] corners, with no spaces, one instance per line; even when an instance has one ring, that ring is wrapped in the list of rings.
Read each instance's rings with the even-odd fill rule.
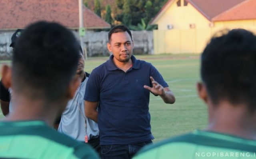
[[[54,21],[79,28],[78,0],[0,0],[0,30],[25,28],[38,20]],[[86,29],[110,28],[110,24],[83,6]]]

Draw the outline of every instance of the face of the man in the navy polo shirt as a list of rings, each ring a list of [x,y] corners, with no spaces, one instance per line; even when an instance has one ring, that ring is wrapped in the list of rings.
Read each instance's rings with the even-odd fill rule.
[[[128,32],[117,32],[111,36],[108,51],[113,53],[114,60],[128,62],[132,56],[133,41]]]

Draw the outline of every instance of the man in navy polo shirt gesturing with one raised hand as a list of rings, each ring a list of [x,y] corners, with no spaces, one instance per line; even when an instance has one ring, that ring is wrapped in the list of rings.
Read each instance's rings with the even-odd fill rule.
[[[100,129],[103,159],[130,159],[154,138],[150,127],[150,92],[165,103],[175,97],[152,64],[132,55],[134,42],[126,26],[108,33],[113,55],[95,68],[86,85],[85,113]]]

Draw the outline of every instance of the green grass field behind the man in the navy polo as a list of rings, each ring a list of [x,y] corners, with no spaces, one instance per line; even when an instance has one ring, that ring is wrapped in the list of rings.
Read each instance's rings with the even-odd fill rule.
[[[160,97],[150,97],[154,142],[204,128],[207,109],[196,93],[196,82],[200,80],[199,55],[137,55],[136,58],[152,63],[176,96],[176,102],[172,105],[165,104]],[[107,59],[108,57],[88,58],[85,62],[86,72],[90,73]]]

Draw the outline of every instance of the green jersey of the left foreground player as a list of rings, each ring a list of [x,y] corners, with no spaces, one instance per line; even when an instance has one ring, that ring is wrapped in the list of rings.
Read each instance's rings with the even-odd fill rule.
[[[58,133],[43,121],[1,121],[0,158],[98,159],[86,143]]]

